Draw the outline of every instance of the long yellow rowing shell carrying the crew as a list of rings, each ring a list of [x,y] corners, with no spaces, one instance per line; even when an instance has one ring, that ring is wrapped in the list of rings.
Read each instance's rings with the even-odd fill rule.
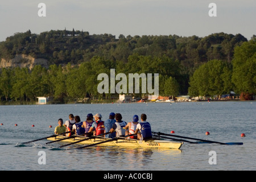
[[[58,140],[63,137],[51,137],[47,138],[48,140]],[[77,142],[79,140],[82,140],[85,138],[69,138],[62,140],[61,142]],[[105,140],[110,140],[110,138],[92,138],[88,140],[84,140],[82,142],[76,143],[76,144],[96,144],[98,142],[103,142]],[[159,140],[159,139],[152,139],[152,140],[135,140],[135,139],[118,139],[113,140],[110,142],[105,142],[98,144],[100,146],[116,146],[116,147],[143,147],[143,148],[171,148],[171,149],[179,149],[183,142],[172,142],[168,140]]]

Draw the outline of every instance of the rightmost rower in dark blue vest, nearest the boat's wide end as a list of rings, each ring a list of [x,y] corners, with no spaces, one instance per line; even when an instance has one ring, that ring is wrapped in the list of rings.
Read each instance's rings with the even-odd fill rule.
[[[150,123],[146,121],[147,115],[141,114],[141,121],[135,130],[135,134],[138,134],[138,140],[147,140],[152,138]],[[140,133],[139,133],[140,131]]]

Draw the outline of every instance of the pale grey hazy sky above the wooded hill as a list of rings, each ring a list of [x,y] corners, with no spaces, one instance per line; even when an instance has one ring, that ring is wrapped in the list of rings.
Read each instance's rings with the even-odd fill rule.
[[[39,16],[39,3],[46,16]],[[216,15],[209,16],[210,3]],[[41,12],[41,11],[40,11]],[[0,5],[0,42],[17,32],[83,30],[112,34],[204,37],[224,32],[256,35],[255,0],[9,0]]]

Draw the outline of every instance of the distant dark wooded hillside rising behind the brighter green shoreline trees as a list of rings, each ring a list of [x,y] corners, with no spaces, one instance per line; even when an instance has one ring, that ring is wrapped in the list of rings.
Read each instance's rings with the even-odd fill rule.
[[[16,55],[27,55],[34,59],[46,59],[45,65],[81,64],[93,56],[105,60],[127,62],[130,55],[163,56],[178,60],[187,73],[212,59],[231,61],[234,47],[247,39],[241,34],[223,32],[199,38],[177,35],[123,36],[89,35],[89,32],[56,30],[32,34],[30,30],[16,33],[0,43],[0,60],[10,62]],[[20,59],[24,61],[24,59]],[[14,66],[0,64],[1,67]],[[16,63],[16,65],[19,65]]]

